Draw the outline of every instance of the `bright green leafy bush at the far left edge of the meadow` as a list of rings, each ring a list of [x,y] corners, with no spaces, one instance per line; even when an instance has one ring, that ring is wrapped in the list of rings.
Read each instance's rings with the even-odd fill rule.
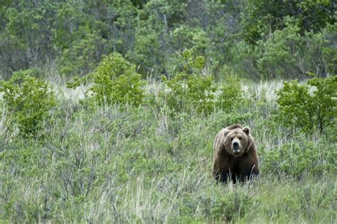
[[[43,80],[31,77],[29,70],[19,71],[9,81],[2,81],[0,92],[9,116],[7,122],[13,130],[17,124],[25,138],[36,137],[48,117],[48,110],[55,105],[54,93]]]

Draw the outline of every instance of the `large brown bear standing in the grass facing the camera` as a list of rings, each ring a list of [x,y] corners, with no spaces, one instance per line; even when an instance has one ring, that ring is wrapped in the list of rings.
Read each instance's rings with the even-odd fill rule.
[[[249,127],[235,124],[217,134],[213,144],[213,176],[218,181],[243,182],[259,174],[255,144]]]

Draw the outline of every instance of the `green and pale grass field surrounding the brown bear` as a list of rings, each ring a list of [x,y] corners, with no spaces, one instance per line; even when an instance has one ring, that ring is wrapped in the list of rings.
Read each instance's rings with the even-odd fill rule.
[[[282,82],[242,85],[255,96],[244,110],[173,116],[156,103],[90,110],[53,82],[43,138],[9,132],[1,105],[0,223],[336,223],[336,133],[274,122]],[[146,86],[155,99],[160,88]],[[252,129],[260,178],[216,184],[213,139],[236,123]]]

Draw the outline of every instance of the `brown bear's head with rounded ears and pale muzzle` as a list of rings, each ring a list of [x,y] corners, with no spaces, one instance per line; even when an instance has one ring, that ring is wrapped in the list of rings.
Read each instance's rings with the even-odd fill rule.
[[[225,129],[223,144],[229,154],[240,157],[252,146],[252,136],[249,127],[237,127],[235,129]]]

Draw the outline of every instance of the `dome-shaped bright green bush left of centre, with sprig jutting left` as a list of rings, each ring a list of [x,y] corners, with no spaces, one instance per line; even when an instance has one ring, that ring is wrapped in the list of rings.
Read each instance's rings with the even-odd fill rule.
[[[68,87],[77,87],[88,78],[92,79],[93,84],[87,95],[91,95],[90,99],[99,105],[118,102],[138,106],[144,98],[144,91],[141,89],[144,82],[141,81],[141,75],[136,73],[136,66],[119,53],[105,56],[95,73],[90,77],[75,79],[75,82],[68,83]]]

